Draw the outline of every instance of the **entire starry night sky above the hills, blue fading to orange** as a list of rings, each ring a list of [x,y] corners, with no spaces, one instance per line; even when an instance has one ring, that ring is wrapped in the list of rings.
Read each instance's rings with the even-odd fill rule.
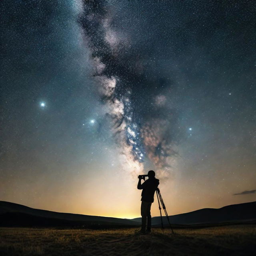
[[[135,218],[148,170],[169,215],[256,200],[255,3],[0,5],[0,200]]]

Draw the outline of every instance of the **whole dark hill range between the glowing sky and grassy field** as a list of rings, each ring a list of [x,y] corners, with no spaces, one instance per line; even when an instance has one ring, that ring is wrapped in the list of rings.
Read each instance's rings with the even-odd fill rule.
[[[110,226],[139,226],[140,221],[141,218],[127,220],[52,212],[0,201],[0,226],[85,226],[88,228],[103,228]],[[165,216],[163,216],[163,221],[166,225],[167,220]],[[256,221],[256,202],[232,204],[219,209],[205,208],[170,216],[172,224],[181,225],[246,221]],[[152,225],[159,224],[160,217],[152,218]]]

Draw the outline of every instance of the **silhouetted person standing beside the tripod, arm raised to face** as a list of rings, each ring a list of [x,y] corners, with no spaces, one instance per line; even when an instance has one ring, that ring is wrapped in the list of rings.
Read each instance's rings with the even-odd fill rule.
[[[155,172],[148,172],[148,180],[141,184],[142,178],[139,176],[138,189],[142,189],[141,193],[141,230],[140,233],[145,234],[151,232],[151,214],[150,208],[152,202],[154,202],[154,194],[159,185],[159,180],[155,178]],[[148,225],[146,230],[146,220],[148,219]]]

